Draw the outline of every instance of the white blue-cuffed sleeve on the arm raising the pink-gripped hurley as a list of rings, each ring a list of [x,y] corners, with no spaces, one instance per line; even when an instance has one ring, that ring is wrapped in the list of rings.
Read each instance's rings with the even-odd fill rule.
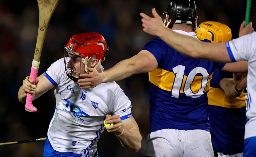
[[[64,75],[64,58],[57,60],[47,69],[43,75],[55,86],[60,83],[61,77]],[[64,73],[63,73],[64,72]]]

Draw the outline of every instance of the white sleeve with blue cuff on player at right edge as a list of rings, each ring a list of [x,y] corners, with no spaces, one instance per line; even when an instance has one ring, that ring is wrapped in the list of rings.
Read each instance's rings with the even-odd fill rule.
[[[226,42],[226,47],[232,62],[250,61],[256,52],[256,32]]]

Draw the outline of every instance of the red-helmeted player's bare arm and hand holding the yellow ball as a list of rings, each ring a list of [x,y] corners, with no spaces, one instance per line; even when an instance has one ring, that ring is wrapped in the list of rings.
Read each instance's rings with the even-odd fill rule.
[[[141,135],[138,124],[133,117],[125,120],[120,119],[120,115],[107,115],[105,122],[115,123],[106,127],[108,132],[115,132],[117,138],[124,148],[137,152],[141,148]]]

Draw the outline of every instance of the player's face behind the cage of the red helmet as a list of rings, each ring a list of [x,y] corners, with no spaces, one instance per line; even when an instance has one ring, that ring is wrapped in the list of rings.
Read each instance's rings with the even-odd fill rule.
[[[75,77],[79,77],[80,72],[84,71],[84,63],[82,57],[68,53],[69,61],[67,67],[71,69],[71,74]]]

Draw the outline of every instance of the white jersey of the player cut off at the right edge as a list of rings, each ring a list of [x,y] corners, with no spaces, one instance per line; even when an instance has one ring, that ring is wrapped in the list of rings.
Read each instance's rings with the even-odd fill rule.
[[[248,61],[247,90],[248,122],[245,125],[245,137],[256,136],[256,32],[244,35],[226,43],[228,54],[232,62]]]

